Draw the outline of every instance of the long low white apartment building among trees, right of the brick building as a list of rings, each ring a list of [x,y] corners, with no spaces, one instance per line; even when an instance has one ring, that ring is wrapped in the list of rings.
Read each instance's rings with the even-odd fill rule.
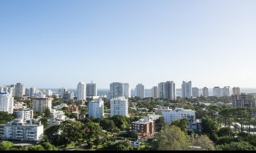
[[[188,119],[195,120],[195,111],[175,108],[175,110],[163,110],[162,115],[166,124],[171,124],[173,120]]]

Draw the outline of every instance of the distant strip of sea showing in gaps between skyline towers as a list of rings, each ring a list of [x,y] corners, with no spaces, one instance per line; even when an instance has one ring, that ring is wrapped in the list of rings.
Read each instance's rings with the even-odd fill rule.
[[[58,89],[40,89],[40,90],[51,90],[52,92],[58,92]],[[68,89],[70,92],[74,92],[76,94],[76,89]],[[109,89],[98,89],[98,94],[99,95],[106,95]],[[241,88],[241,92],[246,92],[246,93],[256,93],[256,88]],[[202,89],[199,89],[199,95],[202,94]],[[232,88],[229,90],[229,94],[232,95]],[[177,96],[182,96],[182,90],[181,89],[176,89],[176,95]],[[213,95],[213,91],[211,88],[209,88],[209,96]],[[131,96],[135,96],[135,89],[131,89]],[[151,89],[145,89],[145,97],[151,97]]]

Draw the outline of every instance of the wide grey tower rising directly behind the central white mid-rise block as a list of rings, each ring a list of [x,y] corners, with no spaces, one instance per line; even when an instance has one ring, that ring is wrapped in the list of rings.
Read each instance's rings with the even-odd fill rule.
[[[124,96],[124,84],[121,82],[113,82],[109,88],[109,99]]]

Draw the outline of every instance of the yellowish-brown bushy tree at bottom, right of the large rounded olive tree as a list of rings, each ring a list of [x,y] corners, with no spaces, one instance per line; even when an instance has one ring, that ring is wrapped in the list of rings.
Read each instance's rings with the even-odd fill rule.
[[[195,149],[194,146],[200,147],[200,150],[215,150],[214,143],[206,135],[192,134],[188,137],[190,145],[193,146],[191,147],[192,150]]]

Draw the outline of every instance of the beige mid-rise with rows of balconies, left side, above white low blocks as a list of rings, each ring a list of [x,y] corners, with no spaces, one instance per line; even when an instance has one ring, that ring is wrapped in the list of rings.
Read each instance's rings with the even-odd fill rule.
[[[52,110],[52,98],[33,98],[32,108],[36,113],[44,112],[45,108]]]

